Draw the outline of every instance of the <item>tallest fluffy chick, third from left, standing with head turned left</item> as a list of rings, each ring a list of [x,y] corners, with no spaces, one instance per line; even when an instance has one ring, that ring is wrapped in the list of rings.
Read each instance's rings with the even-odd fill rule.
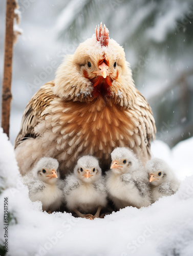
[[[111,158],[111,170],[106,173],[106,189],[115,207],[140,208],[151,204],[148,175],[132,150],[117,147]]]

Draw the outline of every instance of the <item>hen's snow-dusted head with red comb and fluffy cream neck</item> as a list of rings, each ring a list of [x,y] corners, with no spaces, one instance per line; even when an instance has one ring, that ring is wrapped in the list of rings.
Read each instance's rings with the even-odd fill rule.
[[[53,92],[67,100],[92,101],[98,96],[118,96],[118,91],[125,93],[128,87],[135,85],[124,49],[100,24],[95,34],[81,42],[74,55],[68,55],[60,65]]]

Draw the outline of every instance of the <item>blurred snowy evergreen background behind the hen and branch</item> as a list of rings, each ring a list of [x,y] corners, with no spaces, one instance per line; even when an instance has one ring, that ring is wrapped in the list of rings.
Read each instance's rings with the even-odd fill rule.
[[[18,0],[18,4],[23,35],[14,47],[12,66],[12,142],[32,95],[54,79],[63,56],[73,54],[101,21],[125,49],[136,87],[152,106],[157,139],[173,147],[193,135],[192,0]],[[1,1],[1,81],[5,6]]]

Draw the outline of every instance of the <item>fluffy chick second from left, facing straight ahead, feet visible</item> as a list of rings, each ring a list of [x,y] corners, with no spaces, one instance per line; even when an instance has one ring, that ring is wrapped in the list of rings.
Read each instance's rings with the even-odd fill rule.
[[[93,156],[79,158],[74,173],[66,177],[64,192],[67,208],[78,217],[99,218],[107,200],[98,159]]]

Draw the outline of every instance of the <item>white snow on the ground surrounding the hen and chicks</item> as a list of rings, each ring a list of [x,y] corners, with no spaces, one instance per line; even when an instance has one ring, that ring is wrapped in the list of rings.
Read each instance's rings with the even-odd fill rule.
[[[147,208],[126,207],[93,221],[74,218],[66,212],[51,215],[42,212],[39,202],[29,200],[28,189],[20,180],[13,146],[2,130],[0,141],[0,219],[4,219],[4,198],[8,198],[11,216],[7,256],[192,256],[193,138],[171,151],[160,141],[152,146],[154,155],[166,160],[182,180],[175,195]],[[2,245],[5,232],[1,225]]]

